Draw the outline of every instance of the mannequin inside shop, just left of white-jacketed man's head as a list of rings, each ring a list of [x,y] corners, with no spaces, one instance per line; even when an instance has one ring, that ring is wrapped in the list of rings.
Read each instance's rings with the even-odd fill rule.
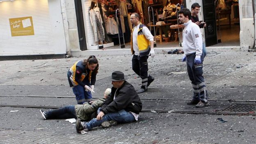
[[[181,8],[178,7],[178,9],[181,9]],[[176,15],[176,5],[174,5],[172,0],[167,0],[163,10],[164,11],[162,14],[164,15],[165,18],[170,18]]]

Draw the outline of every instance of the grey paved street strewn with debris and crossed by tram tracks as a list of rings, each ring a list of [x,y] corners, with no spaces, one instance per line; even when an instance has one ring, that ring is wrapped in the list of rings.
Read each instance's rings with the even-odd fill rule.
[[[217,51],[203,63],[210,105],[185,105],[192,98],[183,55],[157,54],[149,58],[149,73],[155,77],[142,99],[144,110],[231,112],[228,107],[252,107],[256,112],[256,53]],[[131,55],[97,56],[99,73],[94,97],[103,97],[112,71],[123,71],[127,81],[139,89],[141,79],[131,69]],[[0,61],[0,104],[64,106],[75,105],[66,73],[77,60],[68,59]],[[5,96],[8,95],[8,96]],[[73,96],[73,98],[25,97]],[[169,99],[169,100],[164,100]],[[241,101],[224,101],[241,100]],[[251,102],[249,102],[251,101]],[[225,111],[226,109],[226,111]],[[18,110],[18,112],[10,112]],[[256,116],[142,112],[139,121],[98,128],[85,135],[76,133],[74,123],[62,119],[43,120],[38,108],[0,107],[0,143],[3,144],[253,144]],[[48,110],[48,109],[46,109]],[[224,111],[223,111],[224,110]],[[222,118],[224,121],[219,120]]]

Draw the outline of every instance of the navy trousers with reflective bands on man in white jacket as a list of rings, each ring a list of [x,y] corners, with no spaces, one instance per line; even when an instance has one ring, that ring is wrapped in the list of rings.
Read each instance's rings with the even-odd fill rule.
[[[196,53],[186,55],[187,57],[187,73],[191,80],[191,84],[194,90],[193,100],[202,101],[203,103],[207,102],[208,94],[206,89],[206,84],[203,78],[203,59],[204,54],[201,55],[201,64],[196,65],[194,59]]]

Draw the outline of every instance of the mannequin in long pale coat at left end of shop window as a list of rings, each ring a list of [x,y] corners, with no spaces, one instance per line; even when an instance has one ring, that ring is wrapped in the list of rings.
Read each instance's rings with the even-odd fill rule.
[[[89,15],[90,15],[91,26],[94,31],[95,44],[96,43],[98,43],[98,44],[105,43],[104,29],[102,26],[103,21],[101,19],[100,10],[97,7],[96,2],[94,2],[94,1],[91,2]]]

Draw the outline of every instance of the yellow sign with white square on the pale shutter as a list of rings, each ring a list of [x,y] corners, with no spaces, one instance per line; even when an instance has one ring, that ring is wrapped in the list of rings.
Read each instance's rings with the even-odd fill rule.
[[[9,18],[9,22],[12,37],[34,35],[32,16],[22,18]]]

